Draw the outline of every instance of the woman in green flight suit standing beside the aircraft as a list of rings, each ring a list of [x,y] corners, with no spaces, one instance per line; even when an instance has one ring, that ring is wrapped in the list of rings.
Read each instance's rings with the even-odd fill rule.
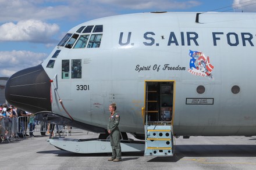
[[[120,131],[118,128],[120,116],[116,113],[116,104],[112,103],[109,106],[109,111],[111,113],[108,123],[108,133],[110,135],[110,143],[112,147],[112,157],[108,161],[119,162],[122,161],[121,158],[121,146],[120,146]]]

